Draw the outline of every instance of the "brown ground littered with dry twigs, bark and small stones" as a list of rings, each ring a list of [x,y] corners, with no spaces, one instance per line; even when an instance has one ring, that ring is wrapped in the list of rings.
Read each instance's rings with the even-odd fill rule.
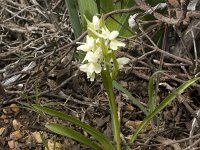
[[[0,4],[0,81],[3,85],[3,88],[0,86],[0,148],[44,149],[40,138],[42,133],[49,147],[53,145],[50,143],[57,142],[57,149],[87,149],[48,131],[45,123],[56,122],[82,132],[72,124],[35,112],[30,106],[36,102],[73,115],[112,140],[108,101],[101,81],[97,79],[91,83],[86,79],[86,75],[78,69],[75,46],[68,45],[73,43],[74,38],[64,2],[5,0]],[[138,32],[133,38],[122,39],[127,47],[121,49],[118,55],[129,57],[132,61],[120,73],[119,83],[147,105],[148,80],[157,70],[165,70],[155,80],[158,102],[184,81],[197,75],[200,71],[199,23],[196,18],[183,29],[177,29],[182,40],[175,31],[172,34],[172,27],[166,28],[165,33],[171,32],[161,49],[148,38],[151,39],[154,31],[166,27],[162,23]],[[191,37],[192,26],[196,40]],[[35,97],[37,90],[38,100]],[[192,120],[200,106],[200,84],[177,96],[142,131],[134,144],[128,144],[128,141],[144,119],[144,114],[127,96],[115,92],[123,148],[179,150],[193,144],[200,149],[200,135],[188,139],[198,134],[197,127],[193,131]]]

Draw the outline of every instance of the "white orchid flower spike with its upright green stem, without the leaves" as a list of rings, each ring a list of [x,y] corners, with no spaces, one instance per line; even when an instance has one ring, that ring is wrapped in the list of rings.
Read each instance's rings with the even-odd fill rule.
[[[109,31],[103,17],[93,17],[92,22],[87,18],[87,31],[85,43],[79,43],[77,50],[86,52],[80,65],[80,70],[87,74],[90,81],[94,81],[96,74],[101,74],[103,85],[106,89],[114,127],[114,137],[117,150],[121,149],[120,125],[117,114],[112,81],[116,79],[118,70],[129,62],[126,57],[116,58],[116,51],[125,44],[117,40],[118,31]]]

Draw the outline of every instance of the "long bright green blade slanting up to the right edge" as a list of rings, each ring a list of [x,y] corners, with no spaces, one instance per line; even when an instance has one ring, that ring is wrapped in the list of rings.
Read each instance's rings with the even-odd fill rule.
[[[184,92],[185,89],[187,89],[189,86],[194,84],[197,80],[199,80],[200,77],[194,78],[191,80],[186,81],[182,85],[180,85],[174,93],[170,93],[155,109],[152,113],[150,113],[146,118],[143,120],[143,122],[140,124],[140,126],[136,129],[134,135],[131,137],[130,142],[134,142],[137,138],[140,131],[147,125],[147,123],[155,116],[157,115],[162,109],[164,109],[170,102],[172,102],[178,94],[181,94]]]

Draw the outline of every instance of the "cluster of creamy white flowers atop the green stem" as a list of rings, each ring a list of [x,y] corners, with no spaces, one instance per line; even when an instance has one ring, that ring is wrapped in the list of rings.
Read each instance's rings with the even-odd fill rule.
[[[82,45],[77,48],[77,50],[86,52],[85,58],[82,61],[84,64],[82,64],[79,68],[87,74],[87,78],[89,78],[90,81],[94,81],[95,75],[101,73],[102,69],[106,69],[105,67],[102,67],[105,64],[114,67],[112,64],[107,64],[108,62],[105,61],[101,42],[105,42],[108,54],[113,50],[117,50],[119,47],[125,46],[123,42],[116,39],[119,32],[110,32],[105,25],[102,25],[103,27],[101,27],[100,24],[103,23],[101,21],[102,19],[99,19],[97,16],[93,17],[92,22],[87,20],[87,30],[89,35],[86,37],[86,43],[81,43]],[[122,57],[118,58],[117,62],[119,69],[121,69],[129,62],[129,59]]]

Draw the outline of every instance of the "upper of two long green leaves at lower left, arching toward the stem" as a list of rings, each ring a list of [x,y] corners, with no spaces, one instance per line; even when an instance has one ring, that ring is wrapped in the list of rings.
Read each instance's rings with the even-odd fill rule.
[[[95,128],[92,128],[91,126],[87,125],[84,122],[81,122],[80,120],[76,119],[75,117],[72,117],[70,115],[66,115],[62,112],[47,108],[47,107],[43,107],[40,105],[33,105],[33,108],[35,108],[36,110],[39,110],[41,112],[44,112],[50,116],[53,117],[58,117],[62,120],[65,121],[69,121],[81,128],[83,128],[86,132],[88,132],[90,135],[92,135],[97,141],[99,141],[101,143],[101,145],[104,147],[104,149],[110,149],[113,150],[114,147],[112,146],[111,142],[108,140],[108,138],[106,138],[101,132],[99,132],[98,130],[96,130]]]

